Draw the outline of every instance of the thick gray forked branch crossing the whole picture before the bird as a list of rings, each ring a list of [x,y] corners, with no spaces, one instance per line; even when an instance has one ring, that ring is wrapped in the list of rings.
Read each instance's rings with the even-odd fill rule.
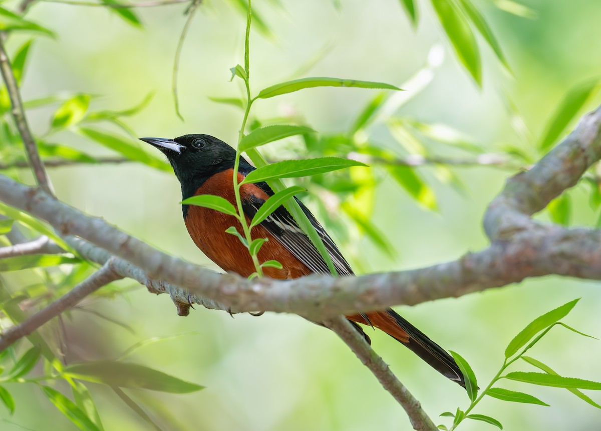
[[[507,182],[484,216],[484,228],[493,240],[487,249],[432,267],[338,279],[309,276],[249,282],[233,274],[219,275],[159,252],[44,191],[3,176],[0,199],[46,220],[64,235],[84,238],[129,261],[148,279],[169,282],[240,312],[290,312],[323,321],[340,314],[456,297],[526,277],[558,274],[601,279],[601,231],[542,225],[530,218],[576,184],[600,156],[601,109],[597,109],[531,170]]]

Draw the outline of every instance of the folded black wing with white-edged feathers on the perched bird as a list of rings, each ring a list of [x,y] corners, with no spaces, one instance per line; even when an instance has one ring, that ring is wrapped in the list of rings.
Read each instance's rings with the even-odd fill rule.
[[[255,185],[260,187],[269,196],[273,196],[273,190],[271,190],[269,185],[265,182],[258,182]],[[296,199],[296,197],[294,199]],[[244,200],[242,206],[246,216],[252,219],[257,213],[258,208],[260,208],[264,202],[263,199],[259,199],[258,197],[253,197],[252,200]],[[334,241],[332,241],[332,238],[330,238],[325,229],[323,229],[322,225],[317,222],[315,216],[311,214],[311,211],[309,211],[300,200],[296,199],[296,202],[299,203],[302,211],[310,220],[311,225],[316,229],[319,237],[322,238],[323,244],[326,246],[326,250],[328,250],[332,262],[334,262],[334,267],[336,268],[338,275],[353,275],[353,270],[350,268],[347,261],[344,260],[344,256],[340,253],[340,250],[338,250],[338,247],[336,247],[336,244],[334,244]],[[282,246],[290,250],[294,257],[307,265],[311,271],[317,274],[330,274],[328,265],[322,259],[319,251],[317,251],[309,237],[304,234],[296,221],[294,221],[294,217],[291,216],[290,212],[288,212],[284,206],[279,206],[279,208],[273,211],[269,217],[260,223],[260,225],[267,229],[267,231],[272,234]]]

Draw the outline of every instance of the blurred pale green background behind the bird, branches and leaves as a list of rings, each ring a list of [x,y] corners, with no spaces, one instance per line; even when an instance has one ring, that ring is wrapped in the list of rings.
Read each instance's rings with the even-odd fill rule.
[[[511,6],[507,1],[474,1],[501,43],[513,72],[504,70],[480,38],[481,89],[460,65],[429,2],[419,2],[415,30],[399,1],[339,3],[254,2],[270,31],[270,35],[251,32],[251,86],[255,94],[273,83],[303,76],[388,82],[406,88],[403,97],[410,98],[391,113],[393,117],[443,124],[460,131],[483,152],[513,154],[508,152],[512,148],[535,160],[537,142],[561,100],[571,88],[596,79],[601,71],[601,2],[596,0],[524,0],[522,5],[530,11],[526,17],[499,8]],[[91,109],[120,110],[154,92],[148,107],[127,119],[137,136],[208,133],[234,145],[242,112],[208,97],[243,94],[242,81],[229,82],[228,70],[243,62],[245,20],[236,4],[203,2],[192,21],[178,78],[183,122],[174,113],[171,69],[186,19],[185,4],[138,10],[144,27],[137,28],[103,8],[38,2],[28,19],[43,23],[57,37],[37,38],[32,45],[23,98],[82,92],[97,96]],[[9,52],[25,40],[19,35],[11,38]],[[423,70],[429,58],[430,67]],[[422,73],[415,78],[419,70]],[[293,116],[322,136],[345,133],[376,94],[368,89],[308,89],[258,101],[251,121]],[[593,94],[580,113],[599,101],[601,97]],[[28,111],[38,136],[49,130],[56,107]],[[520,118],[527,129],[522,134],[514,127]],[[367,136],[370,142],[402,156],[406,149],[395,140],[388,120],[373,122],[355,139],[361,141]],[[118,131],[110,125],[105,130]],[[88,154],[114,154],[69,130],[47,139]],[[132,145],[143,145],[133,137],[127,139]],[[429,154],[475,157],[453,143],[423,141]],[[303,151],[301,140],[291,139],[272,145],[266,154],[276,160],[302,156]],[[516,163],[526,166],[527,158],[518,157]],[[481,217],[516,168],[444,170],[421,166],[415,172],[435,193],[438,208],[434,211],[416,202],[386,170],[379,169],[375,175],[377,186],[369,217],[394,246],[395,256],[383,252],[352,225],[346,235],[342,232],[343,238],[337,231],[344,229],[334,229],[335,240],[343,245],[357,272],[424,267],[486,247]],[[32,181],[25,170],[13,175]],[[444,181],[449,175],[454,182]],[[171,173],[128,163],[60,167],[51,169],[50,176],[59,199],[103,217],[172,255],[219,270],[188,237],[178,205],[179,184]],[[317,198],[328,199],[319,190],[323,191],[316,189]],[[570,193],[571,206],[566,210],[570,225],[596,224],[598,214],[591,208],[590,194],[584,186]],[[318,199],[304,200],[323,218],[323,208],[316,205]],[[548,217],[540,216],[542,220]],[[334,222],[348,223],[344,217]],[[32,271],[5,274],[13,291],[37,282],[38,277]],[[87,300],[85,306],[124,322],[129,329],[91,313],[72,312],[64,319],[63,352],[70,363],[111,359],[141,340],[185,334],[145,346],[132,358],[207,387],[186,395],[128,391],[165,430],[410,429],[404,411],[371,373],[334,334],[317,325],[297,316],[273,313],[260,318],[234,315],[232,319],[227,313],[201,307],[192,310],[188,318],[180,318],[167,295],[148,295],[144,286],[127,280],[117,285],[133,289],[112,299]],[[460,352],[484,387],[501,366],[511,338],[536,316],[573,298],[583,300],[566,323],[601,336],[598,289],[596,282],[543,277],[397,310],[441,346]],[[57,331],[56,325],[46,328],[49,337]],[[448,418],[437,418],[441,412],[469,405],[458,385],[442,378],[385,334],[367,332],[372,346],[437,424],[449,425]],[[563,375],[601,381],[601,345],[596,340],[558,328],[531,355]],[[517,364],[514,370],[518,369],[534,370],[525,363]],[[551,404],[542,407],[485,399],[476,412],[498,418],[505,429],[589,430],[597,429],[601,421],[598,409],[567,390],[510,381],[502,386],[531,393]],[[106,387],[89,387],[106,430],[150,429]],[[7,388],[14,396],[16,412],[10,416],[0,406],[0,429],[76,429],[33,384],[7,384]],[[590,395],[601,402],[599,394]],[[467,431],[490,426],[474,421],[461,427]]]

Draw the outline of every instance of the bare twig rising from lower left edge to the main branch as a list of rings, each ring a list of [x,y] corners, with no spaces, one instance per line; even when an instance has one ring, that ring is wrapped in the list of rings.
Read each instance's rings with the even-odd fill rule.
[[[92,274],[79,285],[75,286],[71,291],[64,294],[62,297],[48,304],[46,307],[35,313],[25,321],[21,322],[2,333],[0,337],[0,352],[4,351],[8,346],[31,334],[41,325],[46,324],[51,319],[63,313],[65,310],[75,306],[88,295],[93,294],[102,286],[106,286],[115,280],[123,278],[112,267],[113,261],[109,260],[103,265],[100,270]]]

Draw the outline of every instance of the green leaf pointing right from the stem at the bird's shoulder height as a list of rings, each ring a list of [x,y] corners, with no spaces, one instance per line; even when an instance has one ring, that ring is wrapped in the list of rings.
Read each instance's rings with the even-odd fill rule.
[[[241,184],[261,182],[278,178],[297,178],[331,172],[351,166],[366,166],[360,161],[340,157],[319,157],[305,160],[283,160],[253,170]]]

